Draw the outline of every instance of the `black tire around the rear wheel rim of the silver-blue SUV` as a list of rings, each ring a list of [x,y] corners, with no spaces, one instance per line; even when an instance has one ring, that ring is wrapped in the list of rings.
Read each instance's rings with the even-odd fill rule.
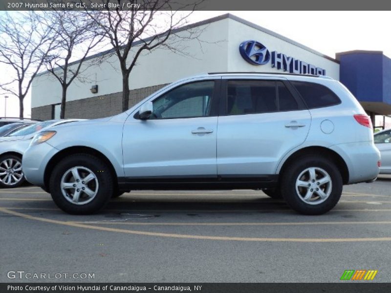
[[[298,189],[296,189],[296,180],[302,172],[309,168],[316,169],[315,177],[318,179],[316,179],[315,182],[312,182],[312,180],[309,179],[310,172],[308,171],[300,177],[300,180],[305,181],[308,184],[313,183],[313,185],[311,185],[311,187],[298,187]],[[325,184],[316,186],[317,182],[320,182],[318,181],[320,180],[319,178],[326,176],[322,172],[326,172],[329,176],[330,185]],[[308,178],[308,181],[306,177]],[[307,155],[297,158],[284,170],[281,179],[282,196],[288,206],[305,215],[321,215],[334,208],[341,198],[342,187],[342,176],[336,165],[332,161],[328,161],[316,155]],[[308,190],[315,190],[316,188],[319,188],[320,192],[330,190],[328,197],[325,196],[326,199],[322,199],[318,193],[314,193],[313,197],[310,197],[313,199],[312,203],[314,204],[305,202],[304,197],[305,194],[307,194],[306,192],[308,192]],[[311,192],[308,194],[311,194]],[[319,201],[318,204],[316,204],[317,201]]]

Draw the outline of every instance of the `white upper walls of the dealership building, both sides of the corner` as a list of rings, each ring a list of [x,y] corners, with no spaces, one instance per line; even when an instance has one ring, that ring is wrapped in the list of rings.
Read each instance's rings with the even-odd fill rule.
[[[338,63],[239,21],[225,18],[203,25],[200,29],[202,30],[199,38],[201,42],[188,40],[182,43],[186,47],[187,54],[185,55],[162,48],[141,55],[130,73],[130,89],[168,84],[187,76],[206,72],[283,73],[282,70],[272,68],[271,62],[259,66],[247,63],[239,53],[239,44],[246,40],[256,40],[265,45],[270,52],[276,50],[287,56],[322,67],[326,69],[326,75],[339,80]],[[91,63],[92,61],[87,61],[83,65],[82,76],[87,79],[84,82],[76,79],[69,86],[67,101],[122,91],[122,75],[115,55],[110,56],[109,60],[100,66],[91,66]],[[93,84],[98,84],[96,94],[91,94],[89,90]],[[61,93],[59,82],[50,73],[37,76],[32,84],[31,107],[60,103]]]

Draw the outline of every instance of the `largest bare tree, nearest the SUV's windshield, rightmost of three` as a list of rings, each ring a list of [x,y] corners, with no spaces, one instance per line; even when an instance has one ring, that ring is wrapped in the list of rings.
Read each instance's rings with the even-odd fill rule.
[[[178,45],[178,39],[167,42],[175,35],[179,39],[195,39],[199,31],[189,29],[187,35],[178,36],[176,30],[187,24],[187,18],[201,1],[185,4],[173,9],[173,0],[143,0],[140,4],[133,4],[129,10],[122,10],[122,0],[103,0],[106,7],[109,2],[117,2],[118,6],[107,8],[104,11],[88,12],[89,16],[98,24],[113,52],[119,60],[122,73],[122,110],[129,108],[129,77],[140,54],[150,52],[157,47],[164,47],[174,52],[183,53]],[[175,2],[174,6],[178,3]],[[111,4],[111,7],[113,5]]]

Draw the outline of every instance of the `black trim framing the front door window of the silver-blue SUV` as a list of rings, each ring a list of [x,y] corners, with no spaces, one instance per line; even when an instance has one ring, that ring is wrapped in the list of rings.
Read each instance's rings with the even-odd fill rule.
[[[189,117],[172,117],[172,118],[153,118],[151,120],[172,120],[172,119],[189,119],[189,118],[206,118],[206,117],[217,117],[219,116],[219,109],[218,109],[218,105],[219,105],[219,100],[221,99],[221,79],[216,79],[216,78],[211,78],[211,79],[202,79],[202,80],[196,80],[196,81],[191,81],[189,83],[184,83],[184,84],[178,84],[177,86],[173,87],[173,88],[170,88],[169,90],[161,93],[159,96],[157,96],[156,98],[154,98],[153,100],[149,101],[149,102],[154,102],[156,101],[157,99],[159,99],[160,97],[162,97],[163,95],[173,91],[174,89],[180,87],[180,86],[184,86],[184,85],[188,85],[188,84],[194,84],[194,83],[200,83],[200,82],[214,82],[214,87],[213,87],[213,94],[212,94],[212,104],[211,104],[211,112],[208,116],[189,116]],[[139,117],[139,111],[137,111],[134,115],[133,115],[133,118],[134,119],[137,119],[137,120],[141,120],[140,117]],[[147,119],[149,120],[149,119]]]

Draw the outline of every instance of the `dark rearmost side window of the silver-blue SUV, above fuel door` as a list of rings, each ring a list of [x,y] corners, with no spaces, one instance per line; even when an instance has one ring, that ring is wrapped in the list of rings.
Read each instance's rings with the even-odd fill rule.
[[[338,105],[341,100],[328,87],[322,84],[291,81],[309,109]]]

